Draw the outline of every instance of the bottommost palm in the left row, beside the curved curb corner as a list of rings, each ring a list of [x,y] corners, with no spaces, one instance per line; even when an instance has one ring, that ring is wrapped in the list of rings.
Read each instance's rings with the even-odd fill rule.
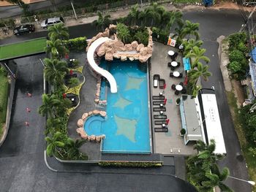
[[[67,136],[62,134],[61,132],[57,131],[55,134],[53,134],[53,137],[45,137],[45,141],[47,142],[46,147],[46,153],[48,156],[53,156],[58,153],[58,155],[61,155],[63,157],[63,154],[61,153],[61,148],[64,148],[65,146],[65,139]]]

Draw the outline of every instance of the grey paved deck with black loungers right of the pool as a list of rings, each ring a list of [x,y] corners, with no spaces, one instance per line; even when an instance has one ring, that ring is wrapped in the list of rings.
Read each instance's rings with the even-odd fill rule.
[[[167,55],[168,50],[173,50],[178,52],[174,47],[168,45],[163,45],[159,42],[154,42],[153,54],[151,57],[151,92],[152,96],[158,96],[162,89],[153,87],[153,75],[159,74],[161,79],[165,79],[166,88],[164,96],[167,98],[167,103],[165,105],[167,119],[170,119],[168,124],[167,133],[154,132],[154,119],[152,119],[153,125],[153,140],[154,140],[154,153],[162,153],[165,155],[192,155],[196,154],[197,151],[193,149],[193,145],[184,145],[184,138],[180,136],[181,131],[181,117],[179,114],[179,107],[176,105],[176,99],[181,96],[179,94],[176,96],[174,91],[171,89],[171,85],[178,84],[179,82],[184,82],[184,78],[173,78],[170,77],[170,67],[167,63],[171,61],[170,57]],[[178,53],[176,61],[181,62],[181,66],[176,69],[178,72],[184,72],[182,65],[181,53]],[[184,76],[184,74],[183,74]],[[153,109],[153,106],[152,106]],[[159,115],[159,112],[153,112],[153,115]],[[153,116],[152,115],[152,116]]]

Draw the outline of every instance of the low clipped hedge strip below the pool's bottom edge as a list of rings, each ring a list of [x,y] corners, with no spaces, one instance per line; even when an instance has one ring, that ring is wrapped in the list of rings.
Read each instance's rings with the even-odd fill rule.
[[[162,161],[99,161],[99,166],[159,167],[162,166]]]

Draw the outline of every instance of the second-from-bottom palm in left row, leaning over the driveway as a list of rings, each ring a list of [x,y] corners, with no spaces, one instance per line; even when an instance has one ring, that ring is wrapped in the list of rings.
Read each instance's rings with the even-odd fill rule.
[[[47,114],[50,115],[50,117],[53,117],[53,114],[55,115],[54,107],[61,104],[61,101],[59,100],[58,96],[55,94],[48,95],[48,94],[42,94],[42,105],[39,107],[38,112],[43,117]]]

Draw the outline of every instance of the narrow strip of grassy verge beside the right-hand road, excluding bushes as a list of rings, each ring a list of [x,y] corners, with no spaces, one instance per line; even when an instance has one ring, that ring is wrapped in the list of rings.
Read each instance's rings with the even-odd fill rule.
[[[248,151],[248,144],[246,143],[246,139],[244,136],[244,129],[242,127],[242,124],[239,120],[238,116],[238,107],[236,105],[236,97],[234,93],[232,92],[226,92],[227,94],[227,101],[230,106],[230,112],[233,118],[233,123],[236,129],[236,134],[238,135],[238,139],[241,145],[241,149],[244,153],[244,157],[246,159],[246,164],[248,166],[248,172],[249,172],[249,177],[250,180],[256,181],[256,161],[255,157],[252,156],[251,153]],[[253,186],[252,191],[256,191],[256,187]]]

